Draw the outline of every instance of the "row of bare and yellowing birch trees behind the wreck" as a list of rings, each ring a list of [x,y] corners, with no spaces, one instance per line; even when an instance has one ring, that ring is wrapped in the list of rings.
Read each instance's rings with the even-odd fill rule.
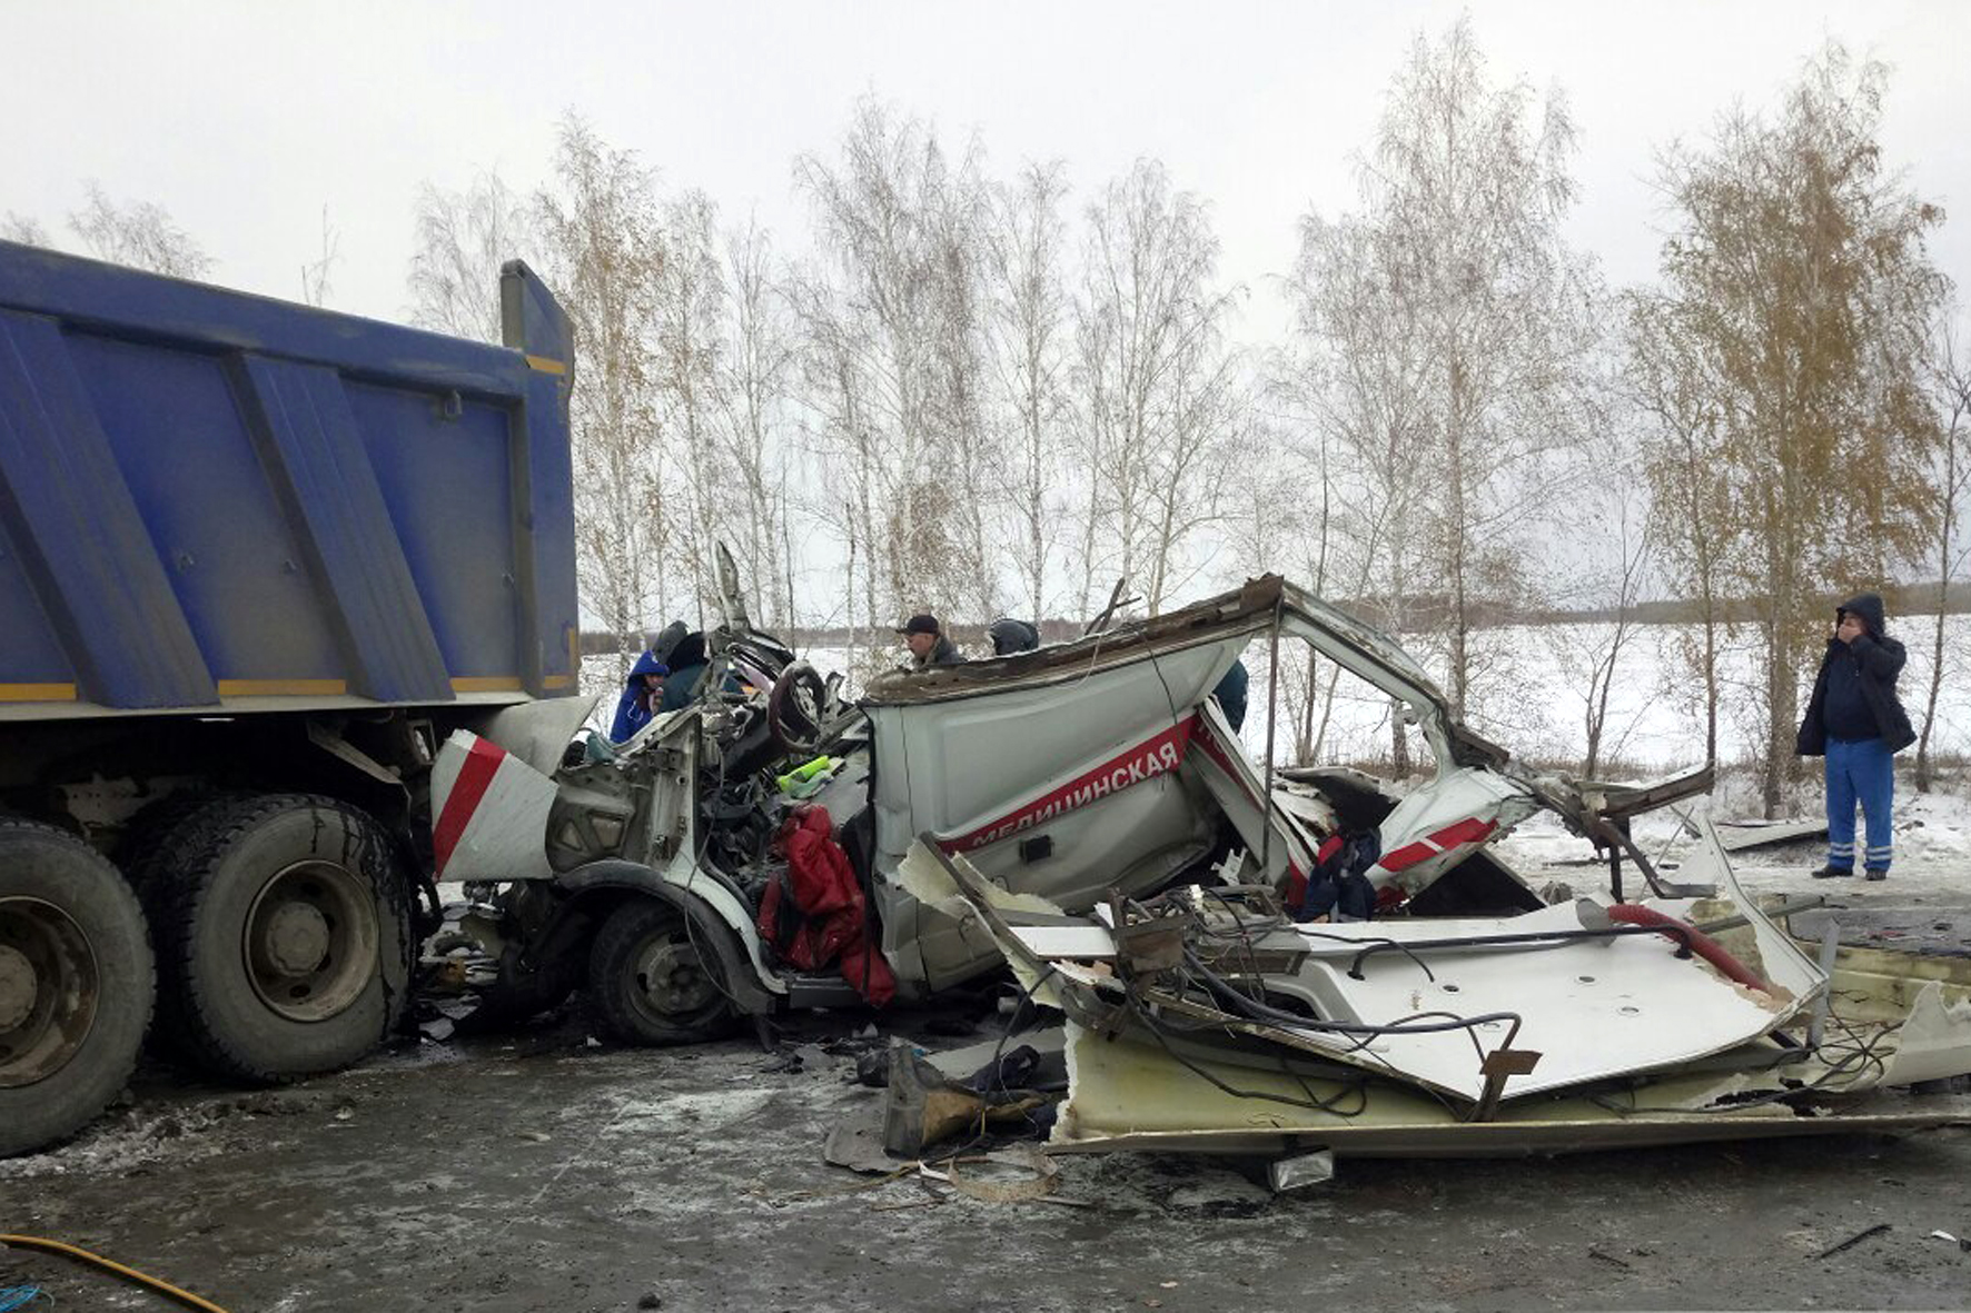
[[[1488,617],[1593,607],[1614,619],[1555,655],[1593,773],[1640,609],[1667,597],[1693,619],[1665,694],[1713,759],[1723,653],[1756,647],[1770,810],[1833,595],[1937,589],[1924,787],[1951,656],[1971,357],[1926,244],[1943,211],[1882,158],[1886,91],[1829,43],[1770,106],[1664,144],[1658,278],[1612,288],[1565,237],[1565,97],[1496,77],[1468,20],[1419,34],[1354,195],[1299,217],[1269,343],[1244,337],[1206,197],[1157,160],[1076,187],[867,99],[792,162],[806,227],[782,241],[570,112],[538,185],[420,191],[410,310],[497,341],[512,256],[562,296],[583,607],[623,653],[717,615],[717,542],[765,623],[846,629],[859,666],[920,609],[1086,617],[1125,578],[1155,613],[1279,570],[1401,635],[1486,727],[1526,696]],[[69,227],[209,266],[95,187]],[[0,235],[45,242],[14,215]],[[323,221],[309,300],[335,254]],[[1336,672],[1277,674],[1319,757]]]

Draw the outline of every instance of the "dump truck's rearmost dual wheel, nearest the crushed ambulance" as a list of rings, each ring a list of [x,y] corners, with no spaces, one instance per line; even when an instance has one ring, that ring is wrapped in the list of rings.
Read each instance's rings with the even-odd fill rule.
[[[408,881],[361,810],[313,795],[221,800],[173,830],[150,881],[160,1031],[201,1067],[278,1082],[363,1059],[402,1015]]]

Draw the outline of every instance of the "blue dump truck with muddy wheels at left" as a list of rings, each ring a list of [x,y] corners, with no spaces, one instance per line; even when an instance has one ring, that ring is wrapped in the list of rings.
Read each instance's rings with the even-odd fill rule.
[[[576,692],[568,317],[505,347],[0,242],[0,1155],[146,1035],[333,1071],[436,913],[438,745]]]

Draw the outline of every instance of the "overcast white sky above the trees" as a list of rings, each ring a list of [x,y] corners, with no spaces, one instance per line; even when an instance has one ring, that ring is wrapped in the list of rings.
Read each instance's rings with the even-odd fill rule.
[[[497,168],[532,187],[581,110],[727,217],[800,229],[798,152],[830,152],[857,95],[1009,170],[1060,158],[1086,195],[1161,156],[1214,205],[1224,272],[1265,296],[1295,217],[1352,203],[1411,35],[1464,4],[0,4],[0,211],[59,241],[83,181],[164,205],[215,282],[300,294],[321,207],[341,233],[329,302],[404,317],[412,197]],[[1894,69],[1884,146],[1953,211],[1936,256],[1971,282],[1971,4],[1472,4],[1500,77],[1575,110],[1575,237],[1614,282],[1648,278],[1658,146],[1734,99],[1766,104],[1835,35]],[[790,244],[782,241],[782,248]],[[1261,308],[1256,306],[1256,311]],[[1265,319],[1267,315],[1259,313]]]

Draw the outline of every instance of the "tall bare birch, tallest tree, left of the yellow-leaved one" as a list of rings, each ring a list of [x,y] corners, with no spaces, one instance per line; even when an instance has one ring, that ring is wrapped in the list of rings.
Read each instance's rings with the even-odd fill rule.
[[[1579,442],[1598,286],[1561,239],[1575,199],[1559,95],[1490,81],[1470,22],[1417,37],[1362,162],[1362,221],[1421,347],[1429,477],[1405,532],[1437,601],[1447,694],[1472,710],[1498,655],[1478,629],[1520,601],[1549,455]]]

